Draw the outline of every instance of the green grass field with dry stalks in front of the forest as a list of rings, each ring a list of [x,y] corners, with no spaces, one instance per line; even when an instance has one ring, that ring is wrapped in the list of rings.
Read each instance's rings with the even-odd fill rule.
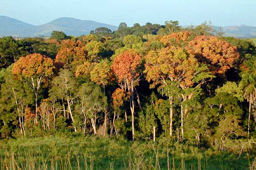
[[[252,169],[255,153],[198,149],[168,141],[130,142],[96,137],[20,138],[1,141],[7,170],[237,170]],[[256,165],[255,165],[256,166]],[[250,168],[251,167],[251,168]],[[255,167],[256,168],[256,167]]]

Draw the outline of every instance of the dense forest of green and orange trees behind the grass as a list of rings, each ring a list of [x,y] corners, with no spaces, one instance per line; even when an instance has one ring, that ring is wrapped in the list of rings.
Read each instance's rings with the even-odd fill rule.
[[[196,28],[121,23],[79,37],[0,38],[1,138],[165,138],[225,150],[256,137],[256,46]]]

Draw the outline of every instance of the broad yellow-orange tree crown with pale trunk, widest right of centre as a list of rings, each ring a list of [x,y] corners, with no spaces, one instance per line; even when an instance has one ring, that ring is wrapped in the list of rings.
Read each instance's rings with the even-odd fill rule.
[[[164,89],[162,92],[169,98],[171,136],[172,107],[174,97],[177,97],[178,93],[180,93],[178,88],[184,91],[190,87],[200,86],[212,75],[208,73],[207,66],[198,63],[194,55],[189,54],[180,47],[170,46],[157,51],[150,51],[145,60],[144,73],[146,73],[146,79],[149,82],[153,81],[150,87],[153,88],[155,85],[160,84],[160,88]],[[188,94],[188,97],[185,94],[181,94],[181,96],[183,101],[186,101],[192,98],[193,93]],[[181,117],[183,117],[182,109]]]

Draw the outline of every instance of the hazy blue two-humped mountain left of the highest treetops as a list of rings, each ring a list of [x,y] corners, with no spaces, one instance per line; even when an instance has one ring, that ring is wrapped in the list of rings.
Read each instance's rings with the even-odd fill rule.
[[[99,23],[90,20],[80,20],[75,18],[58,18],[47,24],[34,26],[14,18],[0,16],[0,36],[50,36],[52,31],[63,31],[67,35],[80,36],[89,34],[91,30],[99,27],[106,27],[112,31],[117,30],[117,26]]]

